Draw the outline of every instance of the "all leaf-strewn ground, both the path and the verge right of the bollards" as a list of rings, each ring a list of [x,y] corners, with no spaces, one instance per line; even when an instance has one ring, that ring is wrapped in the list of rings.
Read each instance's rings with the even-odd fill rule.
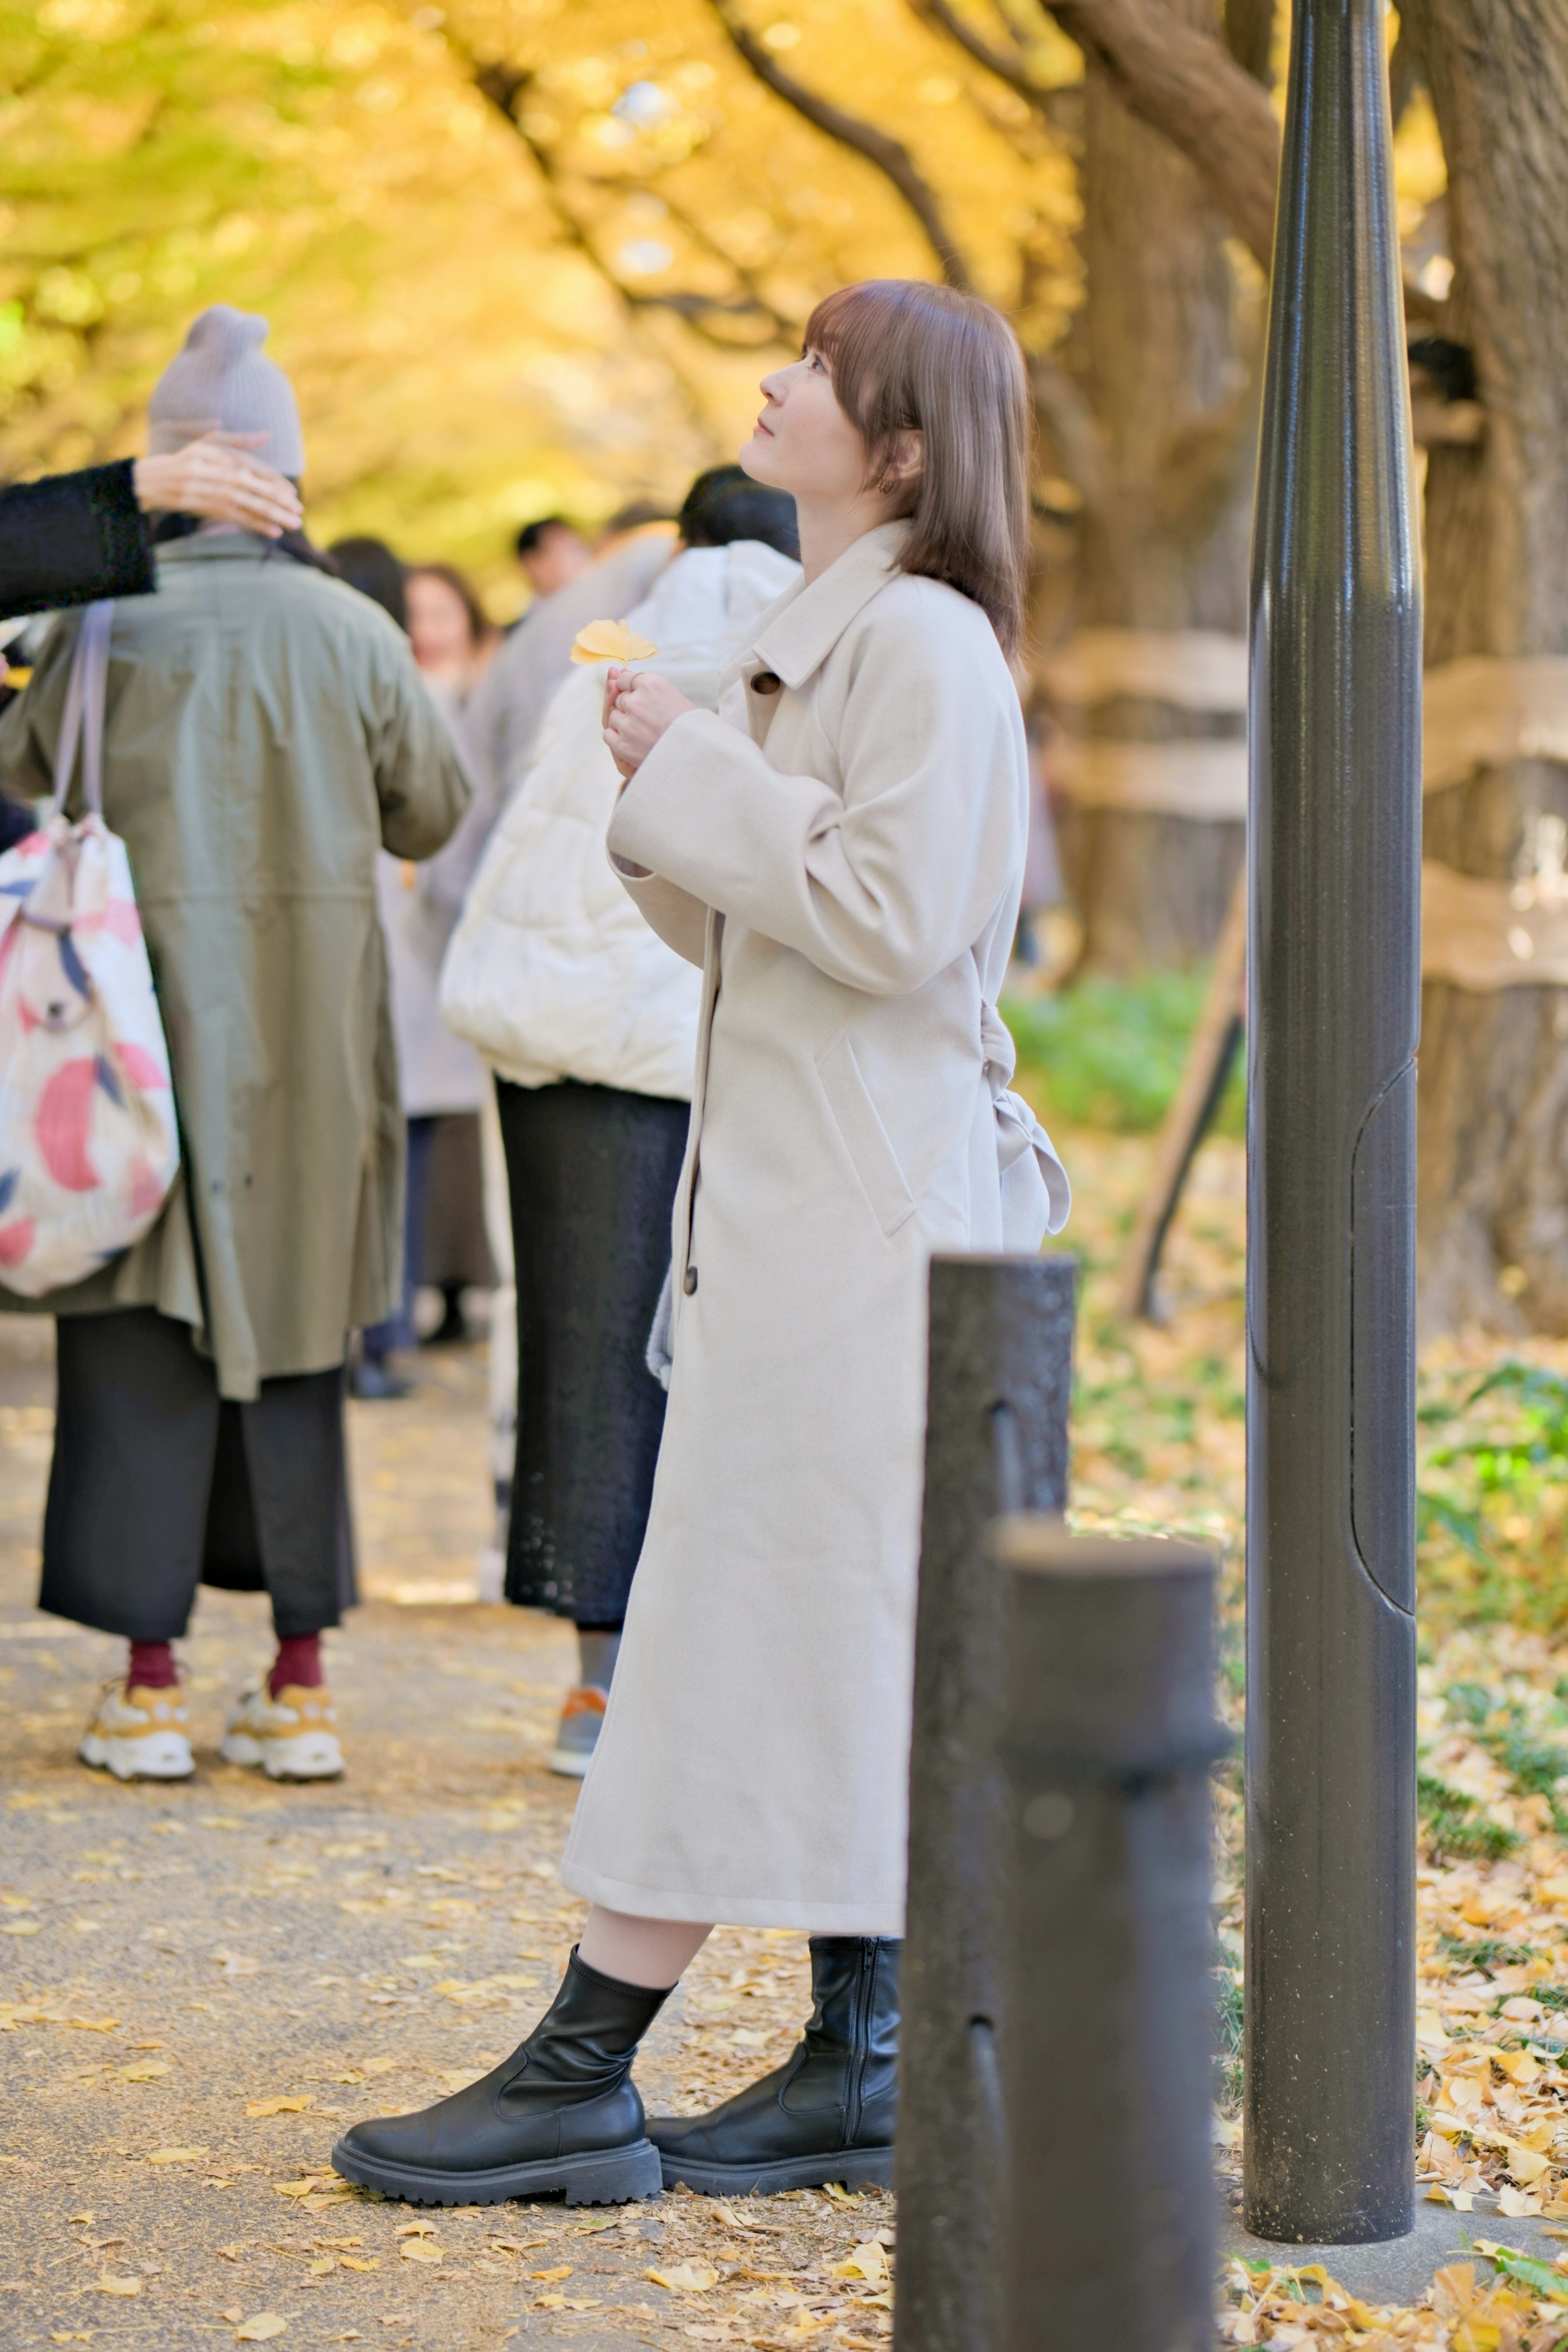
[[[1081,1061],[1100,1084],[1093,1051]],[[1110,1317],[1112,1272],[1150,1138],[1060,1141],[1086,1265],[1074,1515],[1215,1545],[1239,1724],[1241,1145],[1199,1155],[1168,1319],[1128,1329]],[[522,1611],[451,1606],[487,1531],[477,1357],[433,1359],[409,1404],[355,1409],[371,1599],[334,1639],[350,1778],[273,1790],[216,1762],[223,1700],[266,1639],[259,1602],[205,1595],[197,1780],[122,1790],[73,1762],[113,1644],[31,1606],[49,1449],[38,1338],[0,1324],[0,2345],[886,2343],[886,2197],[682,2194],[604,2227],[550,2206],[416,2216],[327,2176],[346,2119],[425,2103],[520,2039],[581,1917],[555,1875],[571,1788],[543,1769],[569,1639]],[[1568,2343],[1568,2270],[1544,2234],[1561,2227],[1568,2253],[1568,1348],[1434,1350],[1420,1399],[1420,2185],[1448,2199],[1462,2258],[1408,2310],[1312,2270],[1229,2265],[1227,2343]],[[1218,1846],[1229,2187],[1234,1771]],[[726,2096],[783,2056],[804,2002],[799,1938],[717,1936],[639,2067],[651,2100]],[[1495,2253],[1526,2234],[1533,2258]]]

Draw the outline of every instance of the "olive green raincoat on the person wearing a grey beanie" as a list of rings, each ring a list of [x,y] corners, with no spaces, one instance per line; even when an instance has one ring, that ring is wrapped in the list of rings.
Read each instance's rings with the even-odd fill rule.
[[[0,776],[52,788],[75,644],[61,619],[0,717]],[[249,532],[160,548],[115,604],[103,818],[125,840],[162,1004],[183,1167],[99,1275],[0,1305],[153,1305],[226,1397],[327,1371],[402,1289],[397,1054],[376,849],[428,858],[468,800],[404,635]]]

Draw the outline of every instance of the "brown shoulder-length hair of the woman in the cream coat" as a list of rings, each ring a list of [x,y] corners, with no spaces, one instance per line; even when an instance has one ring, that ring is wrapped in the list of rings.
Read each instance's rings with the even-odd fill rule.
[[[1030,393],[1018,336],[987,301],[919,278],[839,287],[806,322],[839,407],[865,442],[867,480],[900,433],[924,437],[898,567],[947,581],[1023,644],[1030,576]]]

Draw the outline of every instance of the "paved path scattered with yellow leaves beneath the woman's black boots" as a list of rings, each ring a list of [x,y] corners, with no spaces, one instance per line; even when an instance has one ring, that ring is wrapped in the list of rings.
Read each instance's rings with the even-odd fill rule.
[[[428,1352],[414,1399],[353,1409],[381,1597],[329,1646],[348,1776],[299,1790],[216,1757],[268,1658],[252,1595],[197,1606],[190,1783],[120,1788],[73,1759],[118,1644],[33,1609],[49,1397],[49,1327],[2,1319],[0,2347],[268,2340],[242,2336],[256,2314],[284,2321],[282,2352],[879,2345],[877,2192],[599,2216],[327,2185],[343,2122],[423,2105],[522,2039],[581,1924],[555,1867],[574,1785],[543,1764],[569,1628],[461,1599],[489,1524],[480,1355]],[[804,2009],[804,1938],[715,1936],[639,2063],[649,2105],[729,2096]],[[835,2277],[846,2258],[870,2277]],[[644,2277],[679,2267],[715,2284]]]

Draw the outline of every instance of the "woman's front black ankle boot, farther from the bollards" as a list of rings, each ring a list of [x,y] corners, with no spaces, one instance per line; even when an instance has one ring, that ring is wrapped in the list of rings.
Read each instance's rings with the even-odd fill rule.
[[[529,2039],[465,2091],[418,2114],[355,2124],[331,2150],[346,2180],[409,2204],[548,2197],[625,2204],[658,2192],[632,2058],[670,1999],[571,1955]]]

